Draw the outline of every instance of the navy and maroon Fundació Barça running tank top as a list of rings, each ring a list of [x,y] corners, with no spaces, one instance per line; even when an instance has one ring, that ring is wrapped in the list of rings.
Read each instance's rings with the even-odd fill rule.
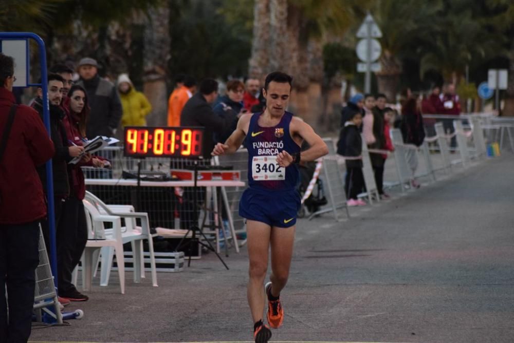
[[[296,189],[300,181],[300,174],[296,164],[291,164],[285,168],[284,180],[259,180],[259,177],[254,178],[252,173],[254,157],[273,156],[273,158],[268,159],[267,164],[258,166],[258,169],[263,167],[269,168],[271,171],[272,168],[279,168],[275,157],[280,151],[285,150],[291,155],[300,153],[300,146],[292,139],[289,132],[289,124],[293,117],[292,113],[286,111],[280,122],[276,126],[270,127],[259,126],[259,118],[261,115],[262,112],[254,113],[250,119],[248,134],[246,135],[246,147],[248,149],[248,185],[250,188],[272,191]],[[280,169],[284,168],[280,167]]]

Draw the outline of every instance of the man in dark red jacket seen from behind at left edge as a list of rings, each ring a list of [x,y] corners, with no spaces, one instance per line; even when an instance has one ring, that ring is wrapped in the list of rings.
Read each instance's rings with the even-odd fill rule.
[[[13,74],[13,59],[0,53],[2,137],[14,105]],[[46,216],[36,166],[54,153],[38,112],[28,106],[17,106],[7,137],[0,156],[0,343],[26,342],[30,336],[35,269],[39,263],[39,221]],[[4,296],[6,287],[8,300]]]

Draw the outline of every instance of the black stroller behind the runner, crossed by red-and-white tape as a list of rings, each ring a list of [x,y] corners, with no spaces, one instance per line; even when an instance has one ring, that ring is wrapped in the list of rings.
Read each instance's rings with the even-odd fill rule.
[[[298,192],[300,192],[302,198],[307,190],[310,180],[313,178],[315,169],[316,162],[307,162],[304,165],[299,166],[300,184],[298,186]],[[315,213],[320,209],[321,206],[326,205],[326,203],[327,200],[323,192],[323,181],[318,178],[316,180],[316,185],[313,189],[313,192],[307,199],[305,199],[304,203],[301,205],[297,217],[305,217],[305,209],[307,209],[310,214]]]

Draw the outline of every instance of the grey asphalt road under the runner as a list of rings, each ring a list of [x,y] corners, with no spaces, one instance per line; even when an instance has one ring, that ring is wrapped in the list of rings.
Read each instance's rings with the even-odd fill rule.
[[[299,220],[282,328],[271,341],[514,341],[514,157],[505,154],[352,218]],[[112,274],[69,326],[31,341],[252,341],[247,255],[211,253],[180,273]]]

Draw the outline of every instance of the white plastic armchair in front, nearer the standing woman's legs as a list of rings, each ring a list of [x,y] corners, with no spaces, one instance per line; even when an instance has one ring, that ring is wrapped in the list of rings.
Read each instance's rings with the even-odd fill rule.
[[[86,223],[88,229],[88,237],[95,233],[103,234],[105,239],[88,239],[84,254],[82,256],[82,286],[84,291],[91,290],[93,279],[93,265],[95,265],[95,254],[104,247],[112,247],[118,261],[118,275],[120,278],[121,294],[125,294],[125,263],[123,257],[123,239],[121,237],[121,219],[118,216],[102,215],[98,208],[88,200],[82,200],[84,211],[86,214]],[[104,223],[108,222],[113,225],[109,234],[105,233]],[[97,255],[98,256],[98,255]]]

